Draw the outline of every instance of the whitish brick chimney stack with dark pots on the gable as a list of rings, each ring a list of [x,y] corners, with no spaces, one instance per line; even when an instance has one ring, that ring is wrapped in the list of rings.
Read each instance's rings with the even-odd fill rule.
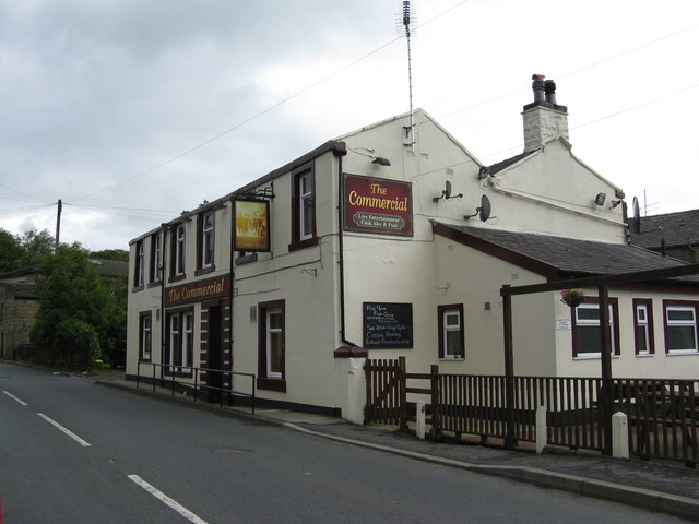
[[[532,76],[534,102],[524,106],[524,152],[538,150],[546,142],[564,136],[568,140],[568,108],[556,103],[556,83]]]

